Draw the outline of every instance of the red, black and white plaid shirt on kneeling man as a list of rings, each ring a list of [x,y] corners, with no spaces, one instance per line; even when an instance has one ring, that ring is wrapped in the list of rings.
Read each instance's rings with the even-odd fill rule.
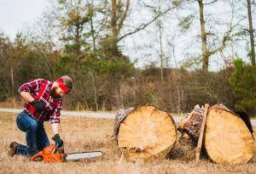
[[[44,88],[44,85],[46,87]],[[35,120],[44,122],[51,121],[51,123],[60,123],[60,115],[62,108],[62,99],[60,98],[51,98],[49,93],[53,85],[53,81],[46,81],[44,79],[36,79],[24,83],[18,90],[18,92],[29,92],[33,98],[37,98],[41,104],[44,104],[45,110],[39,114],[37,111],[33,111],[34,108],[32,104],[29,104],[27,101],[24,104],[24,110],[32,115]],[[38,98],[38,93],[40,89],[44,89],[41,98]]]

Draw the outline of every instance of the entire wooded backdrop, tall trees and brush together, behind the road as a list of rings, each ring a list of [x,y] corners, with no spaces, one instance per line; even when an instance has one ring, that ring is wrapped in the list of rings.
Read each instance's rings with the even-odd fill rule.
[[[56,1],[40,23],[31,28],[32,32],[20,32],[14,40],[0,35],[0,101],[19,99],[17,88],[30,79],[55,81],[59,76],[68,75],[75,83],[73,93],[64,97],[66,109],[113,110],[154,104],[181,113],[189,112],[195,104],[222,103],[230,109],[242,109],[255,115],[253,39],[247,50],[250,64],[238,59],[234,51],[236,42],[248,41],[245,37],[253,35],[253,27],[245,30],[241,24],[246,19],[252,22],[252,16],[236,15],[241,13],[241,8],[242,12],[247,12],[251,7],[244,8],[245,4],[239,2]],[[207,23],[211,14],[203,13],[215,3],[227,3],[232,9],[230,19],[224,21],[228,26],[224,33],[213,30],[218,28],[218,20]],[[247,3],[251,5],[250,1]],[[188,16],[181,13],[184,8],[195,5],[198,11]],[[146,20],[140,19],[141,16],[133,19],[131,7],[134,10],[135,6],[147,9],[147,14],[151,15]],[[174,40],[165,34],[166,18],[172,18],[174,12],[175,16],[180,15],[177,20],[183,33],[197,20],[201,37],[201,53],[188,56],[177,68],[166,63],[170,57],[176,57]],[[125,38],[153,24],[158,38],[152,46],[156,44],[159,48],[156,55],[159,61],[154,63],[148,59],[148,64],[136,68],[137,62],[122,51]],[[172,47],[166,48],[165,42]],[[191,48],[198,48],[198,45],[192,44]],[[172,53],[167,54],[166,49],[171,49]],[[224,57],[226,66],[209,72],[210,58],[217,53]],[[190,65],[200,65],[201,69],[191,69]]]

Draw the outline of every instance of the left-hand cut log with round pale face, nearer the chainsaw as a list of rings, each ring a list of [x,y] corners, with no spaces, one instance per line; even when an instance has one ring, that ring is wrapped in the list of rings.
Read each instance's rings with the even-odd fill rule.
[[[149,104],[119,110],[114,134],[127,160],[164,158],[177,141],[172,115]]]

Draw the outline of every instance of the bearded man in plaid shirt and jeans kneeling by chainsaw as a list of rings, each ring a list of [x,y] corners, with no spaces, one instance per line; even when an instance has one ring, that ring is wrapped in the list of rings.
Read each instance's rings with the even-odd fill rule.
[[[10,143],[9,155],[21,154],[31,157],[49,146],[49,139],[44,130],[44,121],[50,121],[56,147],[63,145],[59,135],[60,115],[63,94],[73,89],[69,76],[61,76],[56,81],[36,79],[23,84],[18,92],[26,100],[24,110],[16,119],[20,131],[26,132],[26,145]]]

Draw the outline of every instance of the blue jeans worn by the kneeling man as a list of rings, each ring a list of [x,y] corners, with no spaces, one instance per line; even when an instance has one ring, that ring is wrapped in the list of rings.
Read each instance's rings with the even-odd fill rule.
[[[19,144],[16,154],[30,157],[49,146],[49,139],[42,122],[36,121],[31,115],[22,111],[16,123],[20,131],[26,132],[26,145]]]

